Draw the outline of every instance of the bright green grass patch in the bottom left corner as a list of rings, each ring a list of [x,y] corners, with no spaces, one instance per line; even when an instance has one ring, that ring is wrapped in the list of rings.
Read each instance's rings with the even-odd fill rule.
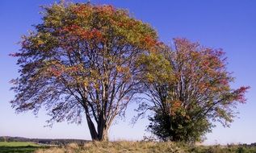
[[[41,147],[36,143],[29,142],[0,142],[0,153],[31,153],[34,152]]]

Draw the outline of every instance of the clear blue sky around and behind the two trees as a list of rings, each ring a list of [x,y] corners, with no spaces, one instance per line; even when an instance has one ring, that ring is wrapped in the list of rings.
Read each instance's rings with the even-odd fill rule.
[[[44,110],[37,118],[27,112],[15,114],[8,103],[13,97],[8,83],[17,77],[16,59],[8,56],[17,52],[20,36],[27,34],[32,24],[40,23],[40,5],[53,0],[0,1],[0,135],[28,138],[90,139],[86,123],[81,126],[57,123],[52,129],[44,127],[48,119]],[[73,1],[86,2],[86,1]],[[233,87],[250,85],[246,105],[230,128],[217,125],[207,135],[205,143],[256,143],[256,1],[253,0],[92,0],[97,4],[112,4],[130,10],[136,19],[150,23],[166,43],[174,37],[186,37],[205,46],[223,48],[227,52],[229,71],[234,72]],[[147,120],[131,126],[135,105],[128,108],[127,118],[111,127],[110,138],[141,139]]]

